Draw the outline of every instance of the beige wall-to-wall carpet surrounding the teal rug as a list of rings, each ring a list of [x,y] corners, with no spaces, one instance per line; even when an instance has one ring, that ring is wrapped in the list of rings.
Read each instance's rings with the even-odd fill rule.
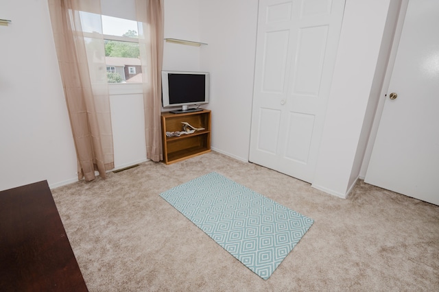
[[[159,197],[211,171],[314,219],[270,279]],[[340,199],[211,152],[52,193],[90,291],[439,291],[439,206],[361,181]]]

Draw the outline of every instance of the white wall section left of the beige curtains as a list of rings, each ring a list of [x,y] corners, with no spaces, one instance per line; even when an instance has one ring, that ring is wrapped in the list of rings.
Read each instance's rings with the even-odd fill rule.
[[[24,2],[24,3],[23,3]],[[0,190],[78,180],[46,0],[0,0]]]

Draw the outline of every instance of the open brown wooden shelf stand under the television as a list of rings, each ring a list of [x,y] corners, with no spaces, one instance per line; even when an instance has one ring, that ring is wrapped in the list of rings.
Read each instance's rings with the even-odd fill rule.
[[[185,112],[174,114],[162,112],[163,160],[167,165],[211,151],[211,111]],[[167,137],[166,132],[182,131],[187,122],[193,127],[204,127],[204,130],[179,137]]]

